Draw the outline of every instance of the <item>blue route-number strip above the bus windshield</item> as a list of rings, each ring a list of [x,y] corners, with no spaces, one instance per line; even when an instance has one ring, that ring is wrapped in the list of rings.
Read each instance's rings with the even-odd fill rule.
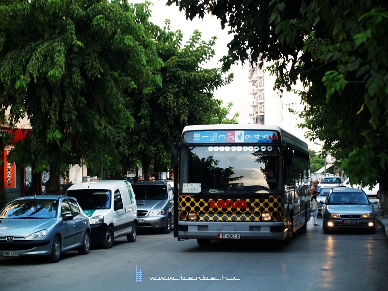
[[[196,143],[273,143],[280,141],[276,130],[197,130],[184,133],[182,142]]]

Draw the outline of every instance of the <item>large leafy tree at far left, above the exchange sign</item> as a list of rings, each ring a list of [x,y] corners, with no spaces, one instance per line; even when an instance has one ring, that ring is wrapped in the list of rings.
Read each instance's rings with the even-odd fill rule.
[[[49,193],[69,165],[113,165],[134,124],[130,95],[161,83],[148,16],[146,4],[119,0],[1,1],[0,118],[10,107],[11,126],[23,116],[32,126],[10,159],[50,165]]]

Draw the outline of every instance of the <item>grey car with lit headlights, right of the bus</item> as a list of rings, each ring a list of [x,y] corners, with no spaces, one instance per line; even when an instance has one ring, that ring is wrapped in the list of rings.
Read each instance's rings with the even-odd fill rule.
[[[376,232],[376,212],[361,189],[335,188],[332,189],[323,201],[322,218],[323,232],[334,229],[364,229],[371,233]]]

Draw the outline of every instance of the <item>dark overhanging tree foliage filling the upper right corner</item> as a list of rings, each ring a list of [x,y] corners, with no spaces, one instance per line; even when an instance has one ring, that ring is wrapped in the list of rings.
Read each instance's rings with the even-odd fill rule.
[[[168,0],[187,18],[229,27],[228,68],[251,55],[273,61],[275,88],[300,92],[311,139],[341,161],[351,183],[380,183],[388,214],[388,2],[384,0]],[[259,65],[262,65],[259,63]]]

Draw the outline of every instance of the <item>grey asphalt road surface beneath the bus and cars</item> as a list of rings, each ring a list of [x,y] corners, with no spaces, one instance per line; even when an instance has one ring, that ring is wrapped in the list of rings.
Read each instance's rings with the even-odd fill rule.
[[[322,219],[319,219],[320,223]],[[322,223],[321,223],[322,225]],[[117,239],[112,249],[65,253],[59,263],[42,258],[0,258],[0,290],[368,290],[388,288],[388,239],[375,234],[307,234],[289,246],[223,240],[199,247],[173,234],[142,232]]]

